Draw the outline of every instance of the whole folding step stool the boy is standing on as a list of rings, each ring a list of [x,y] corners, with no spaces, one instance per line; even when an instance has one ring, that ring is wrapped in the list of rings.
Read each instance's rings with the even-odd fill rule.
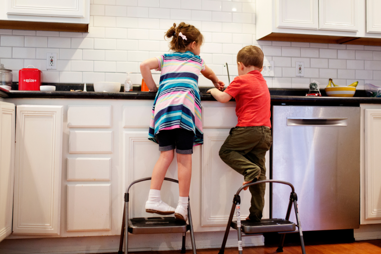
[[[239,195],[240,192],[246,187],[262,184],[262,183],[277,183],[277,184],[288,185],[291,187],[290,202],[288,203],[286,219],[263,219],[263,220],[260,220],[260,222],[252,222],[252,221],[246,221],[246,220],[241,221],[241,212],[240,212],[241,197]],[[250,183],[250,184],[242,186],[240,189],[238,189],[237,193],[234,195],[233,205],[230,211],[228,225],[226,226],[224,240],[222,242],[222,246],[218,254],[224,254],[225,245],[229,236],[230,227],[238,231],[239,254],[242,254],[242,237],[256,236],[256,235],[261,235],[263,233],[268,233],[268,232],[278,232],[278,234],[282,235],[280,239],[279,247],[276,250],[277,252],[283,252],[283,243],[284,243],[285,234],[299,233],[300,243],[302,246],[302,253],[306,254],[306,250],[304,247],[302,226],[300,224],[300,219],[299,219],[297,200],[298,200],[298,196],[295,193],[294,186],[288,182],[277,181],[277,180],[263,180],[263,181],[257,181],[255,183]],[[297,225],[295,225],[294,222],[291,222],[288,220],[290,218],[292,204],[294,204]],[[237,213],[236,221],[232,221],[234,210],[236,210],[236,213]],[[298,227],[298,230],[295,230],[296,226]]]

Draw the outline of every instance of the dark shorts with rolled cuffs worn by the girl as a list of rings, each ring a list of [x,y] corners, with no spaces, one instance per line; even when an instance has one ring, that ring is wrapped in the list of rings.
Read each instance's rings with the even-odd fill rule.
[[[176,153],[192,154],[194,132],[188,129],[176,128],[160,130],[157,133],[159,151],[170,151],[176,148]]]

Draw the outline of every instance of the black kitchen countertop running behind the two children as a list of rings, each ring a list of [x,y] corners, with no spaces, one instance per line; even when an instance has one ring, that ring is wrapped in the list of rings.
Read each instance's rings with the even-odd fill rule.
[[[48,85],[48,84],[47,84]],[[49,84],[51,85],[51,84]],[[116,99],[116,100],[154,100],[156,93],[140,92],[140,87],[134,86],[132,92],[94,92],[92,84],[86,85],[87,92],[70,92],[72,90],[83,89],[79,84],[54,84],[57,91],[7,91],[0,88],[0,97],[2,98],[57,98],[57,99]],[[16,85],[12,85],[12,89]],[[216,101],[206,91],[210,87],[199,87],[201,101]],[[121,88],[123,91],[123,87]],[[328,97],[324,90],[321,91],[321,97],[306,97],[308,89],[279,89],[270,88],[271,104],[273,105],[315,105],[315,106],[359,106],[359,104],[381,104],[381,98],[366,97],[364,90],[357,90],[354,97]],[[232,100],[234,101],[234,99]]]

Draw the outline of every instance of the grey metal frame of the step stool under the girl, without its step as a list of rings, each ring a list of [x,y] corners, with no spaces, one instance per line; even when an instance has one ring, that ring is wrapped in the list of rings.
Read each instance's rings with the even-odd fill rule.
[[[128,254],[128,201],[129,201],[129,189],[132,187],[132,185],[151,180],[150,177],[141,178],[136,181],[133,181],[130,183],[126,189],[125,193],[125,206],[123,209],[123,220],[122,220],[122,230],[121,230],[121,240],[119,242],[119,251],[118,254],[123,254],[123,240],[125,240],[125,254]],[[164,178],[165,181],[173,182],[173,183],[179,183],[178,180],[172,179],[172,178]],[[126,223],[127,222],[127,223]],[[192,244],[192,252],[193,254],[196,254],[196,245],[194,242],[194,234],[193,234],[193,224],[192,224],[192,217],[191,217],[191,205],[189,203],[189,197],[188,197],[188,225],[189,225],[189,231],[191,233],[191,244]],[[187,226],[188,228],[188,226]],[[181,248],[181,253],[185,253],[185,240],[186,240],[186,233],[183,233],[183,243]]]

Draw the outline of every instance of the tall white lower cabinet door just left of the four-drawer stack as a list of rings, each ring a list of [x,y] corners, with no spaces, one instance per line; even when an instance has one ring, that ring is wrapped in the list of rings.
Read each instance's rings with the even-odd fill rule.
[[[63,106],[17,106],[13,233],[60,235]]]

